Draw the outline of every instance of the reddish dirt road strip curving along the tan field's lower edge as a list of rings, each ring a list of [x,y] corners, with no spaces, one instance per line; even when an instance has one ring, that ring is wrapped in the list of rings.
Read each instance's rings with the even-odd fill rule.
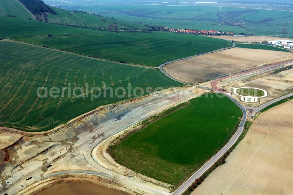
[[[228,75],[228,76],[224,76],[224,77],[218,78],[218,79],[213,80],[211,82],[212,89],[222,91],[221,89],[219,89],[217,87],[217,82],[220,81],[220,80],[224,80],[224,79],[229,78],[229,77],[234,77],[234,76],[239,76],[239,75],[245,75],[245,74],[248,74],[248,73],[251,73],[251,72],[256,72],[256,71],[265,70],[265,69],[269,69],[269,68],[275,68],[277,66],[289,64],[289,63],[292,63],[292,62],[293,62],[293,60],[285,60],[285,61],[278,62],[278,63],[275,63],[275,64],[271,64],[271,65],[267,65],[267,66],[263,66],[263,67],[258,67],[258,68],[253,68],[253,69],[250,69],[250,70],[245,70],[243,72],[234,73],[232,75]]]

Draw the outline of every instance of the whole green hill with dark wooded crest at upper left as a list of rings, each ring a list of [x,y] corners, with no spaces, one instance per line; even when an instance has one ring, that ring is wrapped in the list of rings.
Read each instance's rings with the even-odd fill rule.
[[[31,10],[31,12],[28,9],[26,9],[25,6],[27,6],[28,9]],[[110,30],[110,31],[125,30],[125,29],[136,30],[136,29],[149,28],[140,23],[115,20],[113,18],[103,17],[103,16],[95,15],[95,14],[88,14],[82,11],[70,11],[70,10],[50,7],[50,10],[52,11],[50,13],[47,13],[47,12],[44,13],[43,11],[45,9],[42,9],[39,7],[46,6],[47,8],[48,6],[44,5],[42,1],[40,1],[39,6],[36,5],[36,3],[34,3],[33,5],[25,4],[25,6],[21,4],[20,1],[17,1],[17,0],[1,0],[0,16],[10,16],[13,18],[24,19],[24,20],[28,20],[28,19],[35,20],[36,18],[38,21],[59,24],[63,26],[66,25],[66,26],[72,26],[72,27],[91,28],[91,29]],[[16,22],[20,24],[20,21],[16,21]]]

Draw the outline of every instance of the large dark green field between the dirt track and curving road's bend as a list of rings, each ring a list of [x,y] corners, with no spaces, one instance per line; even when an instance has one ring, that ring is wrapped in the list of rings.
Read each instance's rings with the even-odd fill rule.
[[[169,32],[114,33],[78,36],[24,37],[18,41],[127,63],[159,66],[160,64],[230,46],[222,39]]]

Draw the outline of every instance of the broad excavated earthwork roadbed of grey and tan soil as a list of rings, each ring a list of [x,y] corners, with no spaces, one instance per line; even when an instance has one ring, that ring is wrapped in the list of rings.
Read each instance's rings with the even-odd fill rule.
[[[100,164],[92,151],[108,137],[206,92],[191,86],[171,88],[101,110],[53,134],[30,137],[31,133],[22,136],[16,133],[13,140],[21,138],[0,150],[0,161],[5,161],[4,165],[0,163],[0,194],[33,194],[50,181],[73,176],[94,177],[97,182],[102,182],[100,185],[129,194],[170,194],[170,184],[146,181],[131,172],[119,174]],[[6,139],[7,135],[3,136]],[[11,141],[7,140],[6,145]]]

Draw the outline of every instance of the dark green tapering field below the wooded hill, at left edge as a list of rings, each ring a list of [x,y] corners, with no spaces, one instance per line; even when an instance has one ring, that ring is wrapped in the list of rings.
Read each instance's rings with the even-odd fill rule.
[[[0,16],[0,38],[18,37],[18,36],[47,36],[70,34],[99,33],[100,31],[86,28],[74,28],[38,22],[35,20],[25,20]]]

